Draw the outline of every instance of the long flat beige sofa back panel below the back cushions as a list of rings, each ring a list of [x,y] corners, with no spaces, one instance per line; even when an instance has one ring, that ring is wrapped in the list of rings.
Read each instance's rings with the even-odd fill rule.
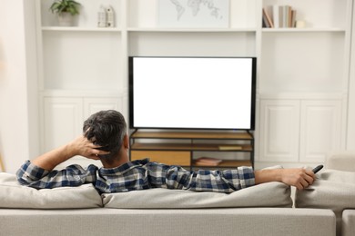
[[[334,236],[324,209],[0,209],[0,235]]]

